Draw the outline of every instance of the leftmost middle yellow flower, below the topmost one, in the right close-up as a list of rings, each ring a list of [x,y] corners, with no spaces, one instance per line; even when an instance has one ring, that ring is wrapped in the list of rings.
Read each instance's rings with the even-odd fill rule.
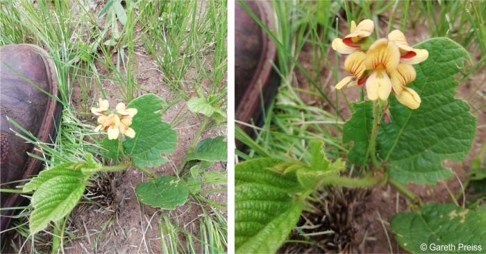
[[[342,89],[346,84],[348,87],[354,87],[355,85],[362,85],[364,83],[363,74],[366,71],[364,66],[364,58],[366,54],[361,51],[356,51],[346,58],[344,61],[344,70],[349,72],[351,76],[343,78],[339,83],[336,84],[335,89]]]

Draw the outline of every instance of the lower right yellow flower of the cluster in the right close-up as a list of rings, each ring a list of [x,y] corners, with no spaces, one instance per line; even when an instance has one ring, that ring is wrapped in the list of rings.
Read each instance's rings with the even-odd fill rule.
[[[393,91],[399,102],[410,109],[418,109],[420,106],[419,94],[405,87],[406,84],[412,82],[417,78],[415,69],[410,64],[400,63],[392,73],[390,73],[392,79]]]

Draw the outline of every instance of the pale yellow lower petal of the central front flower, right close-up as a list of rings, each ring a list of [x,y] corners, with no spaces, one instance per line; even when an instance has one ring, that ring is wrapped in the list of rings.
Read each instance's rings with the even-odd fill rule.
[[[392,92],[392,82],[385,71],[374,71],[366,80],[366,91],[369,100],[387,100]]]

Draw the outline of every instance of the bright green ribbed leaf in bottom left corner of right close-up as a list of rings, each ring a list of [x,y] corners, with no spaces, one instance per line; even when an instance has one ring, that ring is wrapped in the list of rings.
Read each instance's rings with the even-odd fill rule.
[[[274,253],[302,211],[290,193],[301,190],[294,174],[276,172],[280,161],[256,158],[235,165],[236,253]]]

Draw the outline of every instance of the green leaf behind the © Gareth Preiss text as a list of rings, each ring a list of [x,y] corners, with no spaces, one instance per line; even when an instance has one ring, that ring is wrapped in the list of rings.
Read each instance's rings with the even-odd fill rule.
[[[390,229],[395,239],[411,253],[480,253],[486,250],[486,210],[468,210],[452,204],[428,203],[417,212],[403,212],[392,218]],[[426,248],[421,249],[421,244]],[[455,246],[444,252],[437,245]],[[459,249],[460,244],[476,250]],[[422,246],[424,247],[424,246]]]

